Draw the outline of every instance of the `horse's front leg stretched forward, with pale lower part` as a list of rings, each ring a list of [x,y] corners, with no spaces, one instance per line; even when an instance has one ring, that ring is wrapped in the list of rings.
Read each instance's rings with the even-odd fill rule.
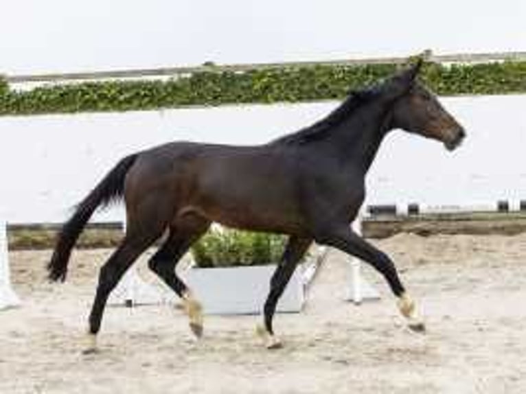
[[[409,328],[415,332],[425,331],[425,325],[422,318],[418,316],[415,301],[407,294],[400,277],[398,277],[396,267],[388,255],[352,231],[348,224],[325,227],[323,231],[317,232],[315,240],[320,244],[333,246],[354,257],[358,257],[358,259],[376,268],[385,277],[392,292],[398,297],[398,309],[407,318]]]

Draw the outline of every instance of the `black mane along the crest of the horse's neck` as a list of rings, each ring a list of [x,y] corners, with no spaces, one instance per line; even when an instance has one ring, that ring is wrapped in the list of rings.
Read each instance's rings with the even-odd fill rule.
[[[317,121],[311,126],[302,128],[297,132],[279,137],[271,143],[306,143],[308,141],[322,139],[328,135],[331,128],[340,124],[343,120],[352,115],[356,109],[363,106],[363,104],[370,102],[373,97],[376,97],[379,90],[378,86],[374,86],[360,91],[351,91],[345,101],[323,119]]]

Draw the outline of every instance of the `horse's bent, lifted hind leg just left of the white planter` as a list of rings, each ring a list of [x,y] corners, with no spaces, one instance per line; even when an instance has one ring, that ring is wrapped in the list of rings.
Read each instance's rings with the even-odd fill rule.
[[[203,335],[201,303],[194,298],[192,291],[176,275],[175,267],[190,246],[207,231],[209,226],[209,220],[195,216],[177,222],[170,227],[167,240],[148,262],[150,269],[183,299],[185,312],[190,319],[190,329],[198,338]]]

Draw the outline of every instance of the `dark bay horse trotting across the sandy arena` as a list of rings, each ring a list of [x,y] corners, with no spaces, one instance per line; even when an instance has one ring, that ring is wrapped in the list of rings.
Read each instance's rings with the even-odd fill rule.
[[[201,305],[175,266],[212,222],[288,235],[259,329],[268,348],[279,346],[272,327],[277,300],[312,241],[374,266],[398,298],[409,327],[424,329],[391,259],[350,227],[365,198],[367,170],[389,130],[437,139],[449,150],[465,136],[437,97],[416,80],[420,65],[351,93],[321,121],[261,146],[174,142],[117,163],[65,223],[48,265],[50,279],[65,280],[71,249],[93,211],[124,198],[126,234],[100,269],[88,350],[95,349],[108,294],[165,233],[148,265],[183,299],[190,327],[201,336]]]

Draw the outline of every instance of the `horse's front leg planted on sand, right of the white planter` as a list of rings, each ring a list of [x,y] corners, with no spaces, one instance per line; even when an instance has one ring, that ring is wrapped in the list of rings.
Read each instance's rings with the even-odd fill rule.
[[[264,305],[264,325],[258,325],[258,334],[263,338],[267,349],[277,349],[281,343],[274,336],[272,320],[276,310],[277,301],[282,296],[290,277],[301,257],[304,256],[308,247],[312,244],[310,238],[299,238],[291,236],[285,247],[281,262],[278,264],[272,278],[271,290],[268,293]]]

